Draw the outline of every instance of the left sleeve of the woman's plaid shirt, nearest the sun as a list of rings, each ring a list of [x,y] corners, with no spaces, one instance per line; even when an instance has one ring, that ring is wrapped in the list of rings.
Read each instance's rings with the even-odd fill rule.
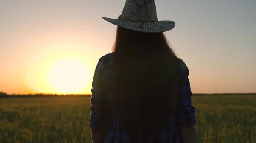
[[[90,127],[92,132],[107,130],[110,118],[110,103],[107,96],[105,68],[102,58],[99,59],[93,76]]]

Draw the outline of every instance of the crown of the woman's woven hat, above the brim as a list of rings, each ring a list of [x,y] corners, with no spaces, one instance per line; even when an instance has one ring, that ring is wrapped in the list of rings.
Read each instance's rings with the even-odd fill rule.
[[[126,0],[119,18],[127,20],[157,21],[157,10],[154,0]]]

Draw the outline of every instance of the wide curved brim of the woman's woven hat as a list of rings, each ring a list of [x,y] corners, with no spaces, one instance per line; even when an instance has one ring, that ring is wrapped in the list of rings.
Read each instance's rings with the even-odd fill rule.
[[[159,33],[172,30],[175,27],[174,21],[157,21],[157,22],[135,22],[130,20],[113,19],[102,17],[104,20],[122,28],[134,31]]]

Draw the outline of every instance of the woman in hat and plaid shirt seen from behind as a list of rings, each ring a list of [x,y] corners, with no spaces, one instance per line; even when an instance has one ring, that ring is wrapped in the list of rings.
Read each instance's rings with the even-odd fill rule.
[[[163,32],[154,0],[127,0],[113,52],[96,66],[91,97],[93,143],[198,143],[189,70]]]

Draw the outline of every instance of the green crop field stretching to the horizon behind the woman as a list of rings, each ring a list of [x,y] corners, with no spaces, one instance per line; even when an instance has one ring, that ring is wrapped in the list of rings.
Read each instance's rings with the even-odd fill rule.
[[[91,143],[90,97],[0,98],[0,143]],[[256,95],[194,96],[200,143],[256,143]]]

